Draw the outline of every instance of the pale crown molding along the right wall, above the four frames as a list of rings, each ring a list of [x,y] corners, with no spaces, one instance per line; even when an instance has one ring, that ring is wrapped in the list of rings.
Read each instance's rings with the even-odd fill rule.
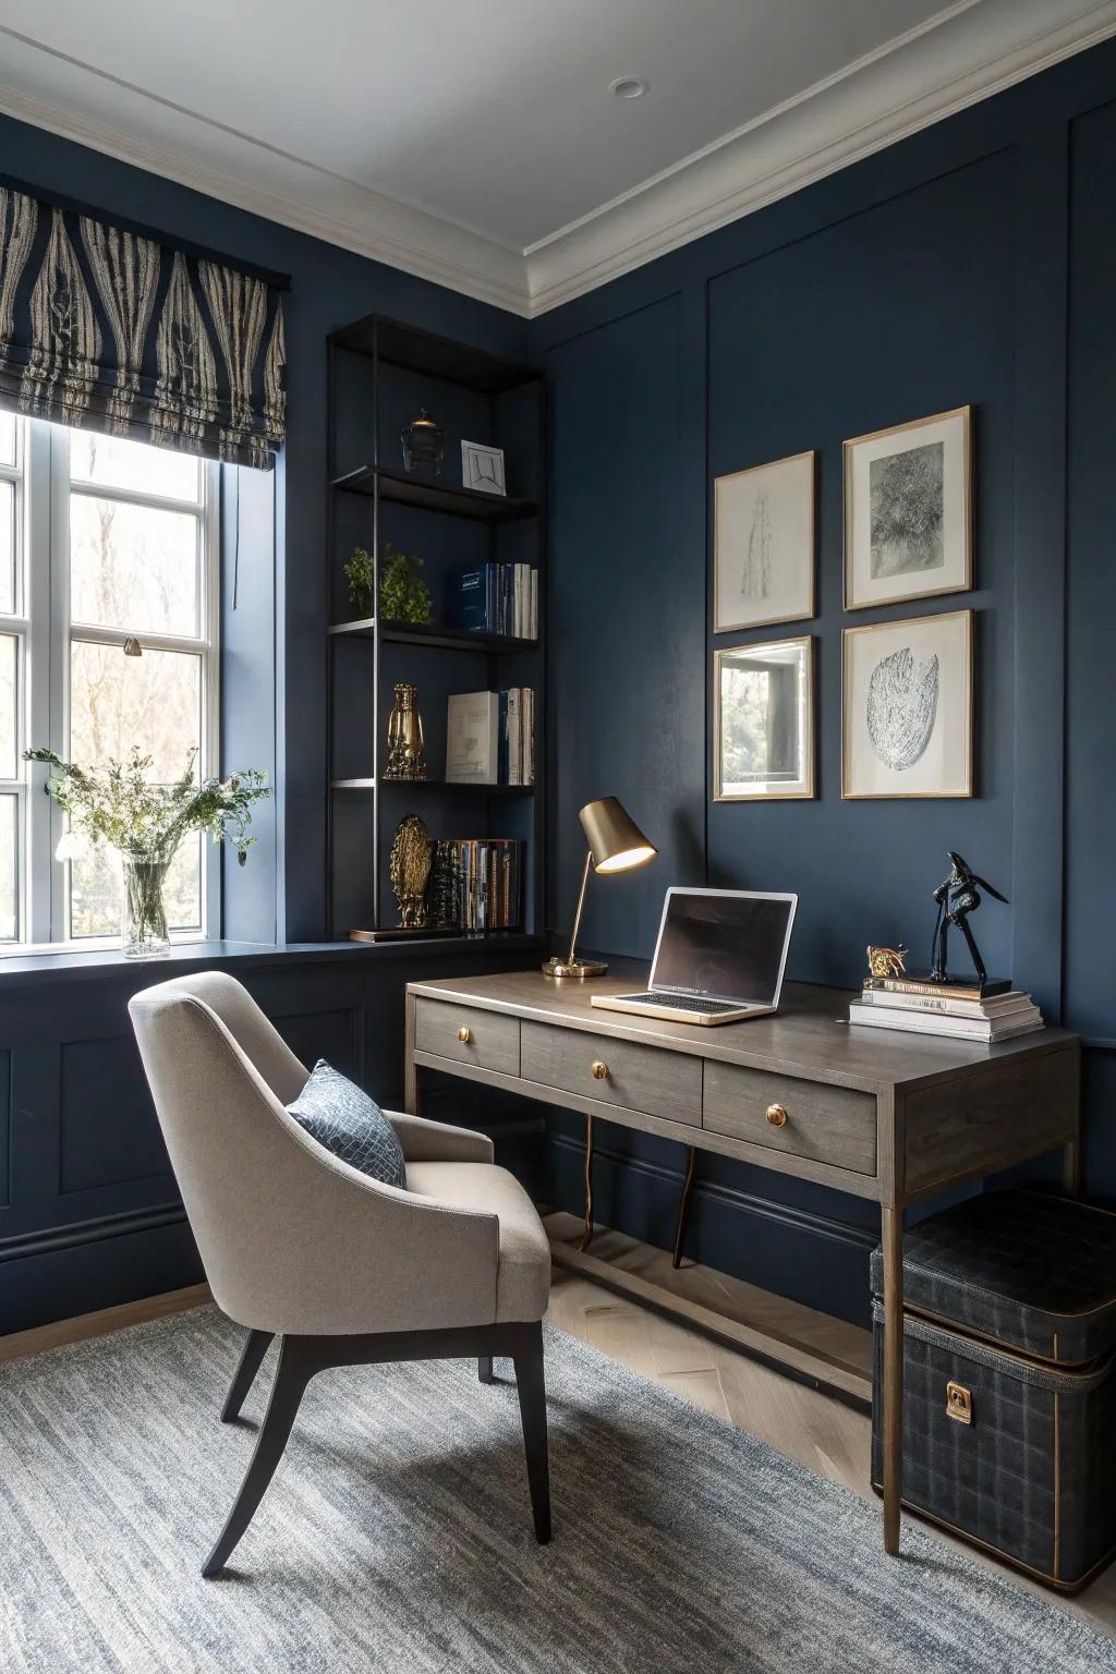
[[[960,0],[529,246],[532,318],[1116,33],[1116,0]]]

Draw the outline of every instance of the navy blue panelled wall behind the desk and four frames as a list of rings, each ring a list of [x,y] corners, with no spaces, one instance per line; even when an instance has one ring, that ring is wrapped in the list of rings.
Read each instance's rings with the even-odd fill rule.
[[[920,949],[945,849],[992,877],[989,964],[1089,1036],[1089,1178],[1108,1138],[1116,999],[1109,648],[1116,604],[1116,49],[555,310],[552,377],[550,921],[582,862],[577,807],[616,792],[661,845],[594,881],[587,946],[648,958],[673,882],[795,889],[790,974],[853,984],[868,941]],[[842,440],[975,407],[977,588],[845,616]],[[820,452],[815,802],[713,804],[711,485]],[[977,795],[842,802],[842,626],[972,606]],[[579,1200],[581,1125],[555,1122],[552,1192]],[[669,1240],[674,1148],[607,1130],[601,1217]],[[863,1317],[872,1210],[703,1158],[691,1252]]]

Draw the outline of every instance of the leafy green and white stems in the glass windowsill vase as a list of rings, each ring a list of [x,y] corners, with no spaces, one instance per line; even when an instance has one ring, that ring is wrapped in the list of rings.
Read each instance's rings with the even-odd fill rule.
[[[271,795],[266,773],[233,773],[229,778],[194,778],[191,750],[186,770],[174,785],[154,785],[152,757],[134,745],[127,762],[87,770],[64,762],[54,750],[27,750],[28,762],[52,768],[47,790],[70,817],[70,830],[84,832],[94,844],[107,842],[122,854],[149,860],[171,860],[189,832],[209,832],[214,842],[228,839],[244,865],[253,802]]]

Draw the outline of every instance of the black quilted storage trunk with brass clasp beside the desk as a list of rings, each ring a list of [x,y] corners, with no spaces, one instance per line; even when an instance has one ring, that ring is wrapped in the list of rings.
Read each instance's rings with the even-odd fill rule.
[[[878,1250],[872,1287],[878,1415]],[[1081,1587],[1116,1550],[1116,1215],[1042,1192],[969,1199],[907,1234],[904,1299],[904,1505]]]

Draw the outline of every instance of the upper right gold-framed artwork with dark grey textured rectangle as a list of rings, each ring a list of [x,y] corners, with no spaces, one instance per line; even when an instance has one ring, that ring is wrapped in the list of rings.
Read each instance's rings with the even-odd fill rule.
[[[845,609],[972,586],[972,407],[845,442]]]

